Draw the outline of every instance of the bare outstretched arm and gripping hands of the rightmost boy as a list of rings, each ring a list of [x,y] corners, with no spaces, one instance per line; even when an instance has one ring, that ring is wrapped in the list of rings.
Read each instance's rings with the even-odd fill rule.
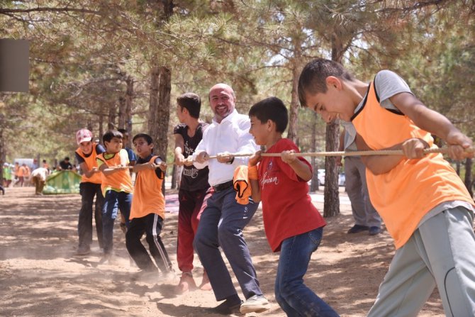
[[[452,159],[462,160],[465,157],[474,157],[474,153],[464,152],[466,148],[471,148],[473,145],[471,139],[455,128],[445,116],[428,109],[413,94],[403,92],[392,96],[390,100],[416,126],[445,140],[449,148],[448,154]],[[418,146],[420,147],[420,145]],[[412,147],[407,145],[403,147],[403,151],[405,154],[407,153],[406,156],[409,158],[419,158],[423,155],[420,153],[421,151],[414,151]]]

